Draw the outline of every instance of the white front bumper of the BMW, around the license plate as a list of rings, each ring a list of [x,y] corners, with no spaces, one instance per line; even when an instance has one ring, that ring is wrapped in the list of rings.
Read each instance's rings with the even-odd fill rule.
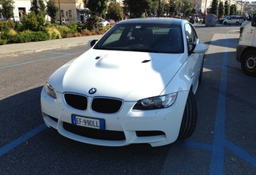
[[[175,142],[183,118],[188,91],[178,93],[175,103],[161,110],[132,110],[136,102],[123,102],[116,114],[101,114],[87,110],[76,110],[66,105],[61,93],[57,99],[41,92],[43,120],[48,127],[58,130],[62,136],[82,143],[119,147],[131,143],[149,143],[152,147]],[[90,104],[92,98],[88,98]],[[85,128],[72,125],[71,115],[101,118],[105,129]]]

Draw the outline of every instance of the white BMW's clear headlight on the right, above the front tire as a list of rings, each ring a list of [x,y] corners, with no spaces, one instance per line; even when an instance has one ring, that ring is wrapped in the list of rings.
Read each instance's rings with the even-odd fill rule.
[[[135,104],[134,110],[157,110],[161,108],[167,108],[175,102],[177,94],[178,93],[175,92],[168,95],[141,99]]]

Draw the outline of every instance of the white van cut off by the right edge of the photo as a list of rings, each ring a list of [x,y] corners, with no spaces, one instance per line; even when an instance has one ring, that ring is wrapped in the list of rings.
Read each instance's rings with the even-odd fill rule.
[[[243,28],[243,33],[236,47],[236,60],[241,63],[243,72],[248,76],[256,76],[256,11],[251,23]]]

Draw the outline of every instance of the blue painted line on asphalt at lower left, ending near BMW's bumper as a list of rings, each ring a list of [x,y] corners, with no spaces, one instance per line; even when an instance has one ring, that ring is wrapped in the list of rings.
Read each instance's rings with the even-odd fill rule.
[[[1,147],[0,148],[0,157],[2,157],[2,155],[5,155],[8,151],[12,150],[14,147],[17,147],[21,143],[24,143],[24,141],[32,138],[33,136],[35,136],[39,132],[42,132],[43,129],[45,129],[45,128],[47,128],[47,126],[45,124],[42,124],[39,127],[34,128],[30,132],[25,133],[23,136],[20,136],[16,140],[13,140],[11,143],[6,144],[6,146]]]

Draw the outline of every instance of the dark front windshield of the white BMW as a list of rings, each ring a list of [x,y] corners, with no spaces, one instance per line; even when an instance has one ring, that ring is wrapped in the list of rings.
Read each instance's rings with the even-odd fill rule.
[[[116,24],[94,49],[153,53],[183,53],[180,26],[170,24]]]

